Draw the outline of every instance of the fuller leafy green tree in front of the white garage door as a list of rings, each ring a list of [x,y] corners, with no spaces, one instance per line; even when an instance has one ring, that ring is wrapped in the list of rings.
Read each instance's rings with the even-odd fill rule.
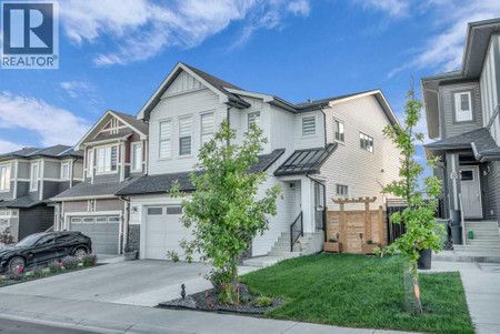
[[[266,173],[251,173],[250,166],[258,162],[258,154],[267,139],[262,130],[252,126],[241,145],[234,143],[236,131],[224,120],[213,139],[199,152],[199,162],[191,173],[197,188],[190,198],[182,200],[181,221],[192,231],[192,240],[182,240],[187,261],[194,253],[201,261],[212,265],[208,279],[219,289],[220,300],[238,303],[238,264],[243,251],[251,246],[254,236],[268,230],[268,215],[276,215],[280,188],[272,186],[258,196]],[[183,196],[179,185],[173,196]],[[169,255],[178,261],[174,252]]]

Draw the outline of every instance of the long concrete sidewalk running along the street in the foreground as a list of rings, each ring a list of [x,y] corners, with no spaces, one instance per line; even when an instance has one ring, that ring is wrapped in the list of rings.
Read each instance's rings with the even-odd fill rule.
[[[61,294],[64,292],[61,291]],[[397,334],[403,332],[346,328],[193,311],[171,311],[114,303],[20,295],[0,292],[0,317],[62,325],[97,333],[207,334]]]

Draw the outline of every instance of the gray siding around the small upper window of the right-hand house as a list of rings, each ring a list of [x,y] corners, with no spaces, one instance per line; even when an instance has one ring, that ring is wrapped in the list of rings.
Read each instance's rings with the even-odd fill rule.
[[[454,122],[454,92],[472,90],[472,114],[473,121],[471,122]],[[482,128],[482,107],[481,107],[481,93],[478,82],[467,82],[448,84],[439,88],[441,95],[441,136],[442,139],[473,131]]]

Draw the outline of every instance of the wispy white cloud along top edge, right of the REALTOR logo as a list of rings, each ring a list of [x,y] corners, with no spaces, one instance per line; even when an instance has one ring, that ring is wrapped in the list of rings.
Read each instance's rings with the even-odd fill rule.
[[[307,16],[309,0],[67,0],[61,1],[61,22],[76,44],[99,47],[113,41],[112,51],[96,54],[98,67],[150,59],[168,47],[193,48],[207,38],[242,21],[250,36],[257,29],[274,29],[287,14]]]

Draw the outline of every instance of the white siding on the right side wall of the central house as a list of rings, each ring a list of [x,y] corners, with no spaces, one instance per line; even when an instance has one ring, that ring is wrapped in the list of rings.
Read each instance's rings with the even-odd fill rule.
[[[389,124],[377,99],[366,97],[333,104],[327,112],[327,141],[333,142],[333,120],[344,124],[344,142],[339,143],[336,151],[321,168],[321,175],[327,178],[327,206],[339,210],[331,201],[337,198],[337,184],[349,186],[349,196],[377,196],[382,204],[381,185],[398,179],[399,152],[382,130]],[[359,133],[373,138],[373,153],[360,148]],[[383,170],[383,172],[382,172]],[[347,205],[347,209],[360,209],[359,205]]]

